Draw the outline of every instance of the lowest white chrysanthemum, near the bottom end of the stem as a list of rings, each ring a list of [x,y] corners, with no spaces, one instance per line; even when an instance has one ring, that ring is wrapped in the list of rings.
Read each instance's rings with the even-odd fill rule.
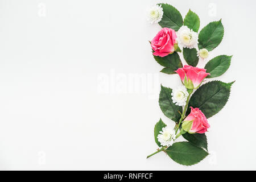
[[[175,131],[168,126],[163,127],[162,130],[158,135],[158,141],[162,146],[170,147],[176,138]]]

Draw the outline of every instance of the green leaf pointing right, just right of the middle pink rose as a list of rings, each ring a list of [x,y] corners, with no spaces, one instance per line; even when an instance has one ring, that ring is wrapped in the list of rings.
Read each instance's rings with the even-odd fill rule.
[[[214,78],[217,76],[221,76],[225,73],[230,65],[232,56],[220,55],[211,59],[204,67],[207,70],[208,78]]]

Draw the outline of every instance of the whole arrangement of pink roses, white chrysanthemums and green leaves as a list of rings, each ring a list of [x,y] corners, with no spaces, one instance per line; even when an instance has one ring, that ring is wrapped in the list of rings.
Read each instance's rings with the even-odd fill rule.
[[[183,86],[171,89],[161,85],[159,106],[175,127],[167,126],[162,119],[156,123],[154,136],[160,148],[147,158],[163,151],[175,162],[191,166],[209,155],[205,135],[210,127],[208,118],[225,106],[234,82],[207,81],[221,76],[230,65],[232,56],[208,59],[209,52],[221,43],[224,27],[219,20],[199,32],[196,13],[189,10],[183,19],[175,7],[166,3],[152,7],[148,17],[162,27],[150,42],[154,59],[164,67],[160,72],[179,75]],[[181,63],[180,56],[188,65]],[[199,61],[208,63],[198,68]],[[180,136],[187,141],[175,142]]]

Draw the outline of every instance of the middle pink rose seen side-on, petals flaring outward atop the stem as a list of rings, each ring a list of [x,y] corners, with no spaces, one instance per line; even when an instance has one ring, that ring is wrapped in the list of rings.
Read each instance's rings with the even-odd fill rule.
[[[175,72],[179,74],[181,81],[188,89],[198,88],[204,78],[207,77],[207,75],[210,75],[210,73],[206,72],[206,69],[189,65],[184,65],[183,68],[179,68]]]

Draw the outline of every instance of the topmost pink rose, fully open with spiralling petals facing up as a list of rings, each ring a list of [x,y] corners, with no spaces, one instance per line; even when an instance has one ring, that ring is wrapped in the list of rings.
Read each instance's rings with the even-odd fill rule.
[[[177,43],[176,39],[177,35],[175,30],[172,30],[171,28],[162,28],[151,41],[152,49],[155,51],[153,55],[164,57],[174,52],[174,44]]]

